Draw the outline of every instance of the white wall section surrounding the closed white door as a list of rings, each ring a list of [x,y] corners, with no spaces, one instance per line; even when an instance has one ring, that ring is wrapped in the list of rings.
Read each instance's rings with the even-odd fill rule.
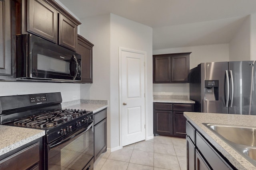
[[[147,67],[147,129],[146,138],[153,137],[152,100],[152,28],[140,23],[110,14],[110,107],[111,148],[118,148],[119,142],[119,47],[146,51]]]

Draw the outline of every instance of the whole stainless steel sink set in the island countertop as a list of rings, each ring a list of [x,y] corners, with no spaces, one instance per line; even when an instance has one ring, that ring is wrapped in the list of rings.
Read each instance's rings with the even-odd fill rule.
[[[203,124],[256,166],[256,127]]]

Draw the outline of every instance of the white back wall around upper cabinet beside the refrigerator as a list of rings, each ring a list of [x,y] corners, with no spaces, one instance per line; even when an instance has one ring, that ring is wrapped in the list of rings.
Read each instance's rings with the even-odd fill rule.
[[[229,60],[229,45],[215,44],[215,45],[201,45],[191,47],[180,47],[170,49],[154,50],[153,54],[169,54],[169,53],[184,53],[192,52],[190,54],[190,69],[196,67],[200,63],[217,62]],[[185,95],[189,98],[189,84],[153,84],[153,93],[159,94],[165,92],[165,95]]]

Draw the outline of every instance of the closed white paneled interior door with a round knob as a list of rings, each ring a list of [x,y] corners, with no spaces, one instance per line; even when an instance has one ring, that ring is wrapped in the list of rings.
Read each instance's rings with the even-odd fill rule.
[[[145,140],[144,54],[122,51],[122,146]]]

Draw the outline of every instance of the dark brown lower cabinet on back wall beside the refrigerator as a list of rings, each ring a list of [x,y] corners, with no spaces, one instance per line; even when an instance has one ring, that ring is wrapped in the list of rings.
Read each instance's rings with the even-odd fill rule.
[[[154,135],[186,137],[184,111],[194,111],[194,104],[157,103],[154,105]]]

